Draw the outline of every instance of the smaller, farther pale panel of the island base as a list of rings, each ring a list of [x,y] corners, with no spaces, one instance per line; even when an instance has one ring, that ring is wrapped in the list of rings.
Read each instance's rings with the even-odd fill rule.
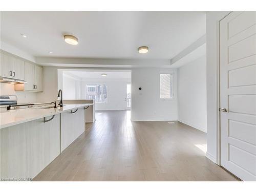
[[[61,113],[61,152],[84,132],[84,109]]]

